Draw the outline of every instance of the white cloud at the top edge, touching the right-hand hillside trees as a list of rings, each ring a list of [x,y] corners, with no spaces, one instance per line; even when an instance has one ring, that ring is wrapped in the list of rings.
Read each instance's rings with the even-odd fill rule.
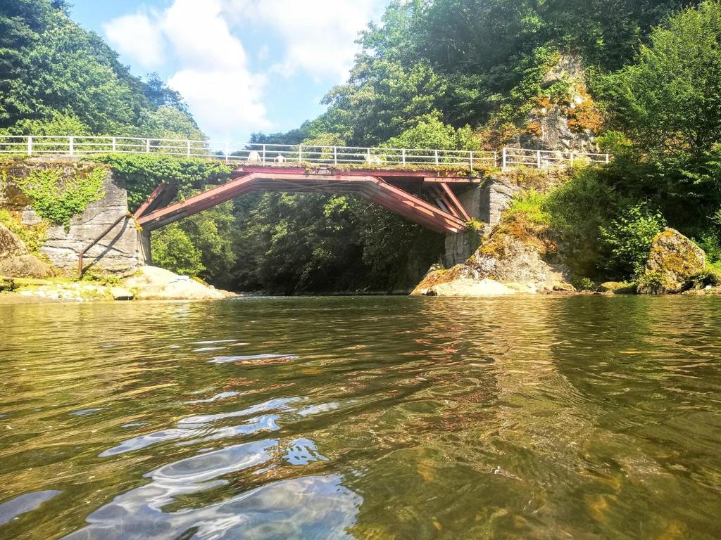
[[[278,32],[285,55],[276,73],[298,70],[344,80],[360,47],[358,32],[377,19],[387,0],[223,0],[235,24],[262,24]]]

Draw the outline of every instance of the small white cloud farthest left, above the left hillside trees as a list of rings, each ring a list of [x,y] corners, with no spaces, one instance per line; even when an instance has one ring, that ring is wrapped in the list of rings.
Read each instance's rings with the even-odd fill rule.
[[[103,24],[102,29],[110,45],[139,66],[154,69],[163,63],[165,48],[162,34],[146,13],[118,17]]]

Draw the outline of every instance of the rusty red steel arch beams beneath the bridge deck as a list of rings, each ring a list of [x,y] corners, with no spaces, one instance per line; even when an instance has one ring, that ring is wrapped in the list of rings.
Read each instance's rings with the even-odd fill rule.
[[[151,231],[249,192],[332,193],[365,197],[438,233],[459,233],[470,216],[456,197],[456,189],[479,183],[477,179],[437,176],[434,171],[339,173],[325,169],[243,166],[235,172],[236,177],[226,184],[182,202],[172,203],[176,190],[161,184],[138,208],[136,220],[143,230]]]

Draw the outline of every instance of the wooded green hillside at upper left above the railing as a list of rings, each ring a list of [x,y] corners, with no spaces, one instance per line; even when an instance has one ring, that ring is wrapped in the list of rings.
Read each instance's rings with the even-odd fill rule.
[[[167,119],[164,107],[180,117]],[[157,112],[165,118],[156,118]],[[167,124],[171,124],[168,127]],[[182,129],[179,129],[182,127]],[[99,35],[69,19],[57,0],[4,1],[0,8],[0,129],[48,135],[81,130],[137,135],[195,132],[182,99],[157,76],[133,77]],[[40,133],[43,134],[43,133]],[[147,134],[143,134],[147,136]]]

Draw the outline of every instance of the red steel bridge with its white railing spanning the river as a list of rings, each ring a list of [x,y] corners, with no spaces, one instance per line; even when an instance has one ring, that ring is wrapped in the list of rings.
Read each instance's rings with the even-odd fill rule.
[[[234,164],[231,180],[182,202],[160,184],[136,211],[144,231],[162,228],[249,192],[356,194],[438,233],[471,220],[459,194],[501,168],[572,167],[609,163],[609,154],[503,148],[500,151],[358,148],[327,145],[214,143],[202,140],[99,136],[0,135],[0,154],[93,156],[159,154]]]

